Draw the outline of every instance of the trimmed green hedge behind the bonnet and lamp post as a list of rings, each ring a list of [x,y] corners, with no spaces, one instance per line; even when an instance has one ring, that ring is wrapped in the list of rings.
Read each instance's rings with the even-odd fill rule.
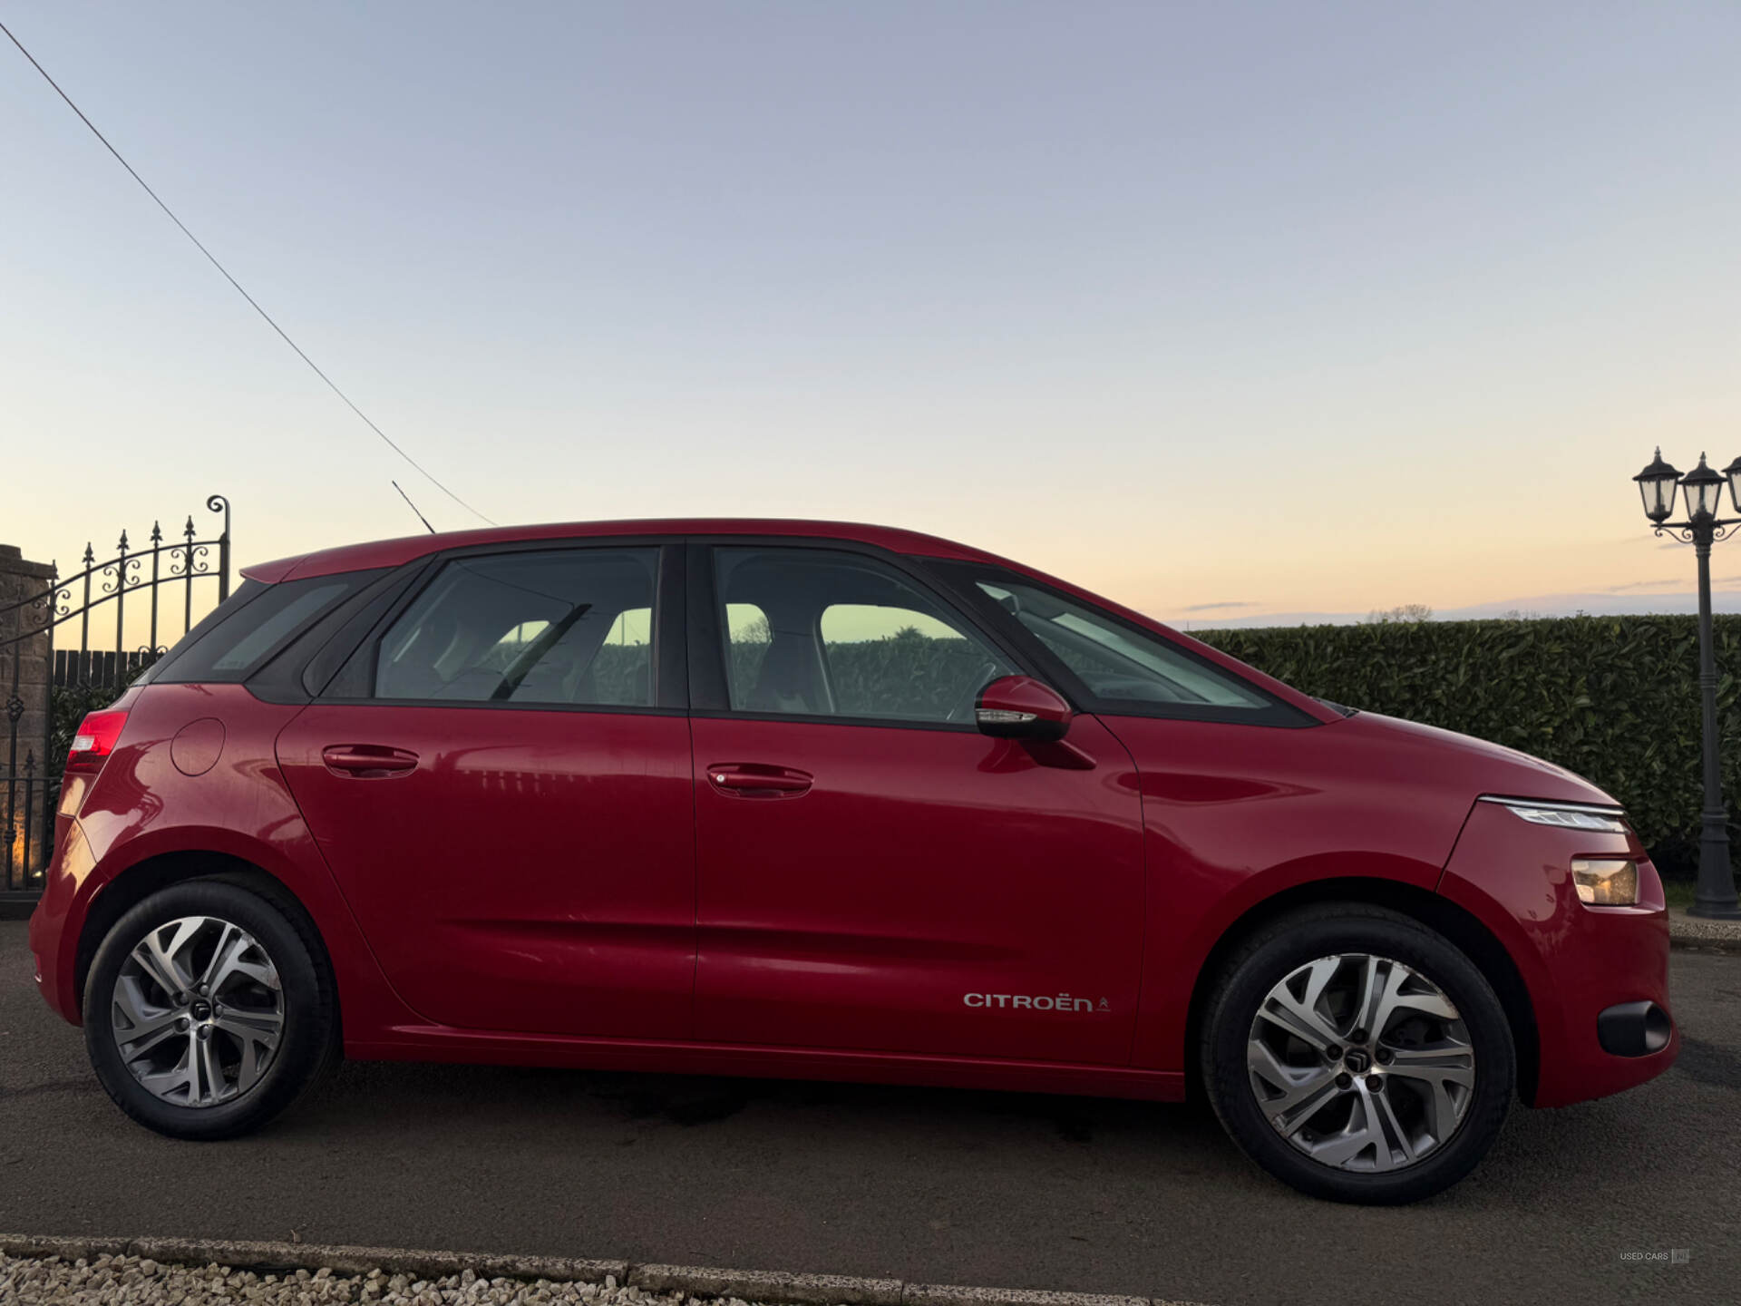
[[[1692,616],[1567,616],[1201,630],[1306,693],[1558,763],[1626,804],[1666,876],[1699,839],[1699,644]],[[1741,616],[1717,618],[1717,717],[1731,815],[1741,796]],[[1729,838],[1741,852],[1741,827]]]

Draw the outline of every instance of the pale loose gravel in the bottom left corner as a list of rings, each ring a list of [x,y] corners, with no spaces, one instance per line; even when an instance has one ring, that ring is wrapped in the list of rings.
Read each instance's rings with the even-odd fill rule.
[[[474,1269],[440,1278],[334,1275],[329,1268],[282,1275],[230,1266],[162,1264],[139,1256],[5,1256],[0,1252],[0,1303],[64,1306],[714,1306],[681,1292],[646,1292],[616,1282],[552,1282],[547,1278],[484,1278]],[[731,1297],[717,1306],[756,1306]]]

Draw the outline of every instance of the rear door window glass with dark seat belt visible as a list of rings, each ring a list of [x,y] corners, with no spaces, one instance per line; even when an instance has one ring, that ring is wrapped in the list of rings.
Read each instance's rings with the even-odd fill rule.
[[[447,562],[381,639],[374,697],[653,705],[656,549]]]

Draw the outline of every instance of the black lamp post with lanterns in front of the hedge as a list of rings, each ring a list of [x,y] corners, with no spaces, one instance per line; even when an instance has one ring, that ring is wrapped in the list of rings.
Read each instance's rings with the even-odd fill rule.
[[[1741,517],[1720,519],[1724,482],[1729,482],[1729,502],[1741,514],[1741,458],[1722,472],[1699,465],[1682,475],[1663,461],[1663,451],[1638,475],[1638,493],[1644,496],[1644,515],[1657,535],[1671,535],[1691,543],[1699,557],[1699,710],[1703,717],[1704,808],[1699,811],[1699,886],[1692,897],[1691,916],[1741,919],[1741,902],[1736,900],[1734,871],[1729,865],[1729,813],[1724,808],[1724,777],[1717,761],[1717,653],[1711,637],[1711,545],[1727,540]],[[1687,505],[1687,521],[1671,522],[1675,486],[1680,486]]]

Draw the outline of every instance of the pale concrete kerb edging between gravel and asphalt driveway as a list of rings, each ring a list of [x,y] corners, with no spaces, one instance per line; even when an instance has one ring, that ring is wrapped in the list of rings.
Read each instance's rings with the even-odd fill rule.
[[[1025,1292],[1020,1289],[904,1283],[898,1278],[853,1275],[792,1275],[778,1269],[714,1269],[709,1266],[630,1264],[552,1256],[487,1256],[423,1252],[406,1247],[334,1247],[326,1243],[225,1242],[211,1238],[80,1238],[0,1235],[0,1252],[16,1257],[57,1256],[96,1261],[99,1256],[136,1256],[164,1264],[284,1273],[329,1268],[334,1275],[387,1275],[446,1278],[470,1269],[481,1278],[604,1283],[613,1280],[644,1292],[679,1292],[691,1297],[736,1297],[789,1306],[1189,1306],[1161,1297],[1116,1297],[1092,1292]]]

